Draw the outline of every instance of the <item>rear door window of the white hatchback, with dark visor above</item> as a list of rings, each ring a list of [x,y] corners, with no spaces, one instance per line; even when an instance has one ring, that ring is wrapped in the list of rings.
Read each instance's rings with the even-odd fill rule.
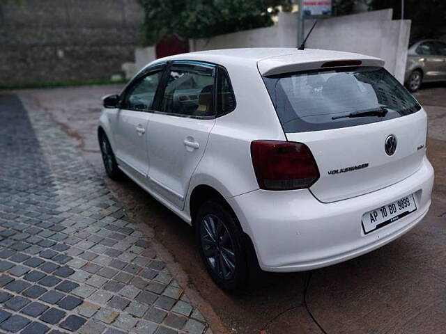
[[[181,116],[214,116],[213,66],[172,65],[160,111]]]

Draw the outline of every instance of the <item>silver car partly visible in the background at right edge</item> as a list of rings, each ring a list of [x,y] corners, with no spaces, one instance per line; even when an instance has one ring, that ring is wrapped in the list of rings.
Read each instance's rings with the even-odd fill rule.
[[[424,82],[446,81],[446,43],[420,40],[408,49],[406,87],[415,92]]]

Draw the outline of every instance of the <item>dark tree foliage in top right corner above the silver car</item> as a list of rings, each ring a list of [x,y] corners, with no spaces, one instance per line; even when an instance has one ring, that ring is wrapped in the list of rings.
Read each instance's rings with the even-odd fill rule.
[[[401,0],[373,0],[371,6],[374,10],[393,8],[394,19],[401,18]],[[405,0],[404,18],[412,20],[413,39],[439,38],[445,28],[446,1]]]

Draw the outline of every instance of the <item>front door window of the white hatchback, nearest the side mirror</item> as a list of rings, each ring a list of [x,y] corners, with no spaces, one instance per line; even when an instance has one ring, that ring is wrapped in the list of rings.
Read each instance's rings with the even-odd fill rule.
[[[139,79],[125,93],[124,99],[121,102],[121,108],[141,111],[151,109],[161,76],[162,71],[158,71]]]

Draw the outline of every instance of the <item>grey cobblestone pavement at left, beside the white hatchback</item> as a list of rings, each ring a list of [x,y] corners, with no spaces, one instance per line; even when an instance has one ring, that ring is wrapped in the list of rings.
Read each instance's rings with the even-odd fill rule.
[[[0,333],[210,333],[66,135],[0,95]]]

